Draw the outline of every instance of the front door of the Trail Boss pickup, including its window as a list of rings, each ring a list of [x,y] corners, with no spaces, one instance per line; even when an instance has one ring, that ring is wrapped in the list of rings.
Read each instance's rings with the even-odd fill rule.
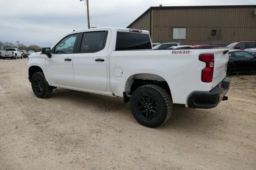
[[[68,35],[46,57],[46,73],[51,84],[74,87],[73,56],[77,35]]]

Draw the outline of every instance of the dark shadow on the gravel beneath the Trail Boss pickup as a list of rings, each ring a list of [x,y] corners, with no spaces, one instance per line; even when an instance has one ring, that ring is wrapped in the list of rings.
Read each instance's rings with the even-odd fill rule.
[[[122,98],[115,98],[111,96],[102,96],[98,94],[91,94],[86,92],[78,92],[74,90],[67,90],[58,88],[54,90],[52,96],[49,98],[52,101],[59,99],[79,107],[88,107],[88,105],[98,111],[105,111],[110,114],[124,114],[127,121],[131,121],[130,103],[124,104]],[[213,109],[190,109],[182,106],[173,107],[170,119],[157,129],[178,129],[179,131],[212,131],[212,127],[223,126],[224,115],[216,114],[217,110]],[[134,119],[135,120],[135,119]],[[137,123],[135,121],[135,123]]]

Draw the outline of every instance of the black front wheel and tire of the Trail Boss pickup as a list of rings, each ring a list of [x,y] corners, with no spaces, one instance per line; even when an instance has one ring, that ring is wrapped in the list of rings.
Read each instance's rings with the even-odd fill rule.
[[[48,98],[52,94],[52,88],[50,88],[46,81],[43,72],[36,72],[32,75],[31,86],[38,98]]]

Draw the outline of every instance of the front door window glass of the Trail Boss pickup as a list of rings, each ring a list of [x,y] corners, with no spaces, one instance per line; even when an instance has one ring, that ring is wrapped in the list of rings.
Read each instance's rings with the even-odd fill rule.
[[[76,36],[77,34],[73,34],[62,39],[55,46],[54,53],[58,53],[58,54],[73,53]]]

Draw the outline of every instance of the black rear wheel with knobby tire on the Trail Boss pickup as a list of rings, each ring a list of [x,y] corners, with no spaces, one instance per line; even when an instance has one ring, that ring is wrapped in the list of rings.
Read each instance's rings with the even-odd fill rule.
[[[165,123],[172,113],[172,105],[168,93],[153,84],[136,89],[130,100],[132,115],[146,127],[158,127]]]

